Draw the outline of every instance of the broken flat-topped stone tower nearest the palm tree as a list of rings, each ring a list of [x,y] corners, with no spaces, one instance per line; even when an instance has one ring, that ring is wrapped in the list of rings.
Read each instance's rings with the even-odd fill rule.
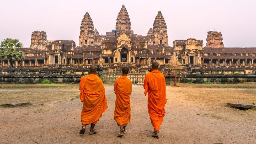
[[[47,35],[45,31],[33,31],[31,35],[31,44],[29,47],[46,47]]]

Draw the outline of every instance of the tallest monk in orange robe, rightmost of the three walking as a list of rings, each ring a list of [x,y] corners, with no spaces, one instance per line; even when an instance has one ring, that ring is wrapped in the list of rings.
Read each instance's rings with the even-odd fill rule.
[[[154,133],[152,137],[159,138],[160,125],[163,122],[165,116],[164,106],[166,104],[165,93],[165,78],[164,75],[158,71],[159,64],[157,62],[152,63],[152,72],[146,74],[143,87],[145,89],[144,94],[148,93],[148,114],[150,116],[151,124],[154,127]]]

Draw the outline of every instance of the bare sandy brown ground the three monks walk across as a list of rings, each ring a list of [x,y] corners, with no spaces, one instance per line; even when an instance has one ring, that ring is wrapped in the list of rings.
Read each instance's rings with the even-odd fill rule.
[[[196,92],[210,97],[207,90],[214,93],[223,89],[169,86],[159,139],[151,137],[153,127],[141,85],[133,85],[128,132],[117,137],[120,129],[113,118],[113,85],[105,84],[105,88],[108,109],[95,126],[98,134],[89,135],[89,126],[84,135],[79,134],[82,103],[76,98],[40,106],[0,108],[0,143],[256,143],[255,111],[234,110],[223,104],[215,106],[204,103],[204,98],[199,102],[189,97]],[[69,91],[79,95],[79,90]]]

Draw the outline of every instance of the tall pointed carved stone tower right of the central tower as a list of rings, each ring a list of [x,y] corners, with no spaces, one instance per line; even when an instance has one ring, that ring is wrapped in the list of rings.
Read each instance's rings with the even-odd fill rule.
[[[154,20],[152,41],[153,45],[168,45],[167,26],[161,11],[158,11],[158,14]]]

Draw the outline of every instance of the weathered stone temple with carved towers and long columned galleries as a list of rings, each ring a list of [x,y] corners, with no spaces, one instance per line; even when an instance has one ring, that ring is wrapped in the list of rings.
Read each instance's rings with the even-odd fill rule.
[[[206,47],[202,40],[189,38],[168,44],[167,25],[163,14],[156,14],[147,35],[136,35],[131,29],[130,16],[122,5],[116,19],[116,29],[99,34],[86,12],[80,26],[79,43],[72,40],[47,40],[44,31],[34,31],[23,61],[14,67],[88,68],[99,65],[108,72],[129,66],[133,72],[147,72],[157,61],[161,68],[253,68],[256,67],[256,47],[224,47],[222,34],[208,31]],[[1,67],[8,60],[0,61]]]

